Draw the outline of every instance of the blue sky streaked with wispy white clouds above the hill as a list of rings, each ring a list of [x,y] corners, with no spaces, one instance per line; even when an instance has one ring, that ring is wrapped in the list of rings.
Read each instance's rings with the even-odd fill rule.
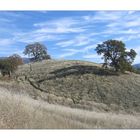
[[[140,11],[0,11],[0,57],[40,42],[53,59],[101,63],[97,44],[121,40],[140,63]]]

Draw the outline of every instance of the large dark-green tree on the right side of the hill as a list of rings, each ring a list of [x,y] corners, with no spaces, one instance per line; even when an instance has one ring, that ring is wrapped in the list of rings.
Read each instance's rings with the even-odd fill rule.
[[[107,68],[109,65],[115,71],[121,72],[132,70],[131,64],[137,55],[133,49],[126,51],[125,44],[118,40],[108,40],[98,44],[95,50],[99,55],[103,55],[104,67]]]

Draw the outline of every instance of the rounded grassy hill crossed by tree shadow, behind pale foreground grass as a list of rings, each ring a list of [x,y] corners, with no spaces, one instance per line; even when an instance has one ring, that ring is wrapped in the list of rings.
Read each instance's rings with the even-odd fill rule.
[[[117,75],[85,61],[43,61],[16,72],[32,96],[49,103],[96,111],[140,111],[140,75]],[[30,88],[26,88],[30,89]]]

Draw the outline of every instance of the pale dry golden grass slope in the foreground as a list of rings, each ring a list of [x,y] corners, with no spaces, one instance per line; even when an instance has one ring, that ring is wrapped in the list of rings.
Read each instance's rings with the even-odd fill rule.
[[[140,128],[139,114],[72,109],[20,92],[0,86],[0,128]]]

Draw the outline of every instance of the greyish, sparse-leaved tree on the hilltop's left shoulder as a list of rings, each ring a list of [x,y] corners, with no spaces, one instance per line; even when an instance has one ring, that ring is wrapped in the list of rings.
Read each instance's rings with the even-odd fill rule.
[[[38,42],[27,45],[23,53],[28,55],[31,61],[51,59],[51,57],[47,54],[47,48]]]

